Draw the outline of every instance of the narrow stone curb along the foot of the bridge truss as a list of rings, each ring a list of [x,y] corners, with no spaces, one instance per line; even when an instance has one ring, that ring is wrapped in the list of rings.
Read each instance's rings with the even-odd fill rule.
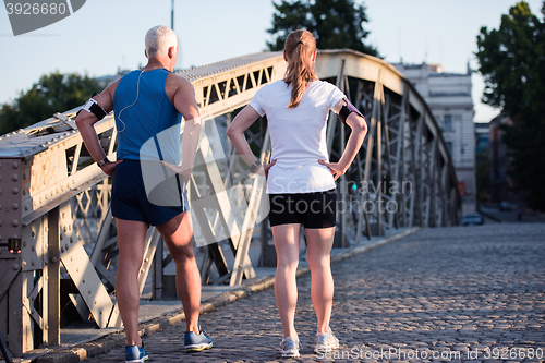
[[[359,254],[365,253],[373,249],[379,247],[387,243],[397,241],[402,239],[409,234],[414,233],[419,230],[419,227],[410,228],[403,232],[395,234],[392,237],[378,240],[376,242],[370,243],[363,246],[355,246],[350,249],[347,252],[339,253],[335,256],[331,256],[331,265],[338,264],[344,259],[354,257]],[[296,277],[301,277],[311,271],[308,267],[300,267],[296,271]],[[271,288],[275,285],[275,276],[266,276],[256,281],[249,283],[239,289],[234,289],[228,292],[222,293],[219,297],[215,297],[204,301],[201,304],[201,314],[209,313],[218,307],[228,305],[239,299],[246,298],[249,294],[253,292],[264,291]],[[146,323],[140,324],[140,334],[149,336],[154,332],[160,331],[170,325],[178,324],[185,318],[185,314],[183,310],[179,310],[173,313],[169,313],[159,317],[152,318]],[[50,353],[45,353],[32,360],[33,363],[76,363],[88,358],[93,358],[99,354],[102,354],[114,347],[120,347],[125,343],[125,335],[124,331],[116,331],[109,335],[101,336],[94,341],[81,343],[76,347],[65,348],[62,350],[53,351]],[[24,360],[23,362],[31,362],[28,360]]]

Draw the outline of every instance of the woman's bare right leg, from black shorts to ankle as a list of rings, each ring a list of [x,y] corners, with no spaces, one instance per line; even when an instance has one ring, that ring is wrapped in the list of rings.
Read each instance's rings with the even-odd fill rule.
[[[334,303],[334,277],[331,275],[330,253],[334,245],[335,227],[305,228],[307,252],[311,268],[311,297],[318,318],[317,332],[327,332]]]

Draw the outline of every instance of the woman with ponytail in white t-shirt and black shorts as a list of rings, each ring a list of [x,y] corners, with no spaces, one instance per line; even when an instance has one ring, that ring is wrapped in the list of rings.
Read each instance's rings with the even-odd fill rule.
[[[282,356],[299,356],[294,327],[298,299],[295,271],[301,226],[305,228],[311,295],[318,320],[315,351],[339,348],[329,328],[334,280],[330,252],[337,210],[335,180],[354,159],[366,134],[365,119],[334,85],[314,71],[316,41],[307,31],[294,31],[286,39],[283,80],[259,89],[233,120],[227,135],[252,171],[262,169],[244,137],[244,131],[267,114],[272,157],[261,170],[267,176],[269,220],[277,253],[275,295],[282,323]],[[326,125],[330,109],[352,129],[338,162],[328,162]],[[341,117],[342,116],[342,117]]]

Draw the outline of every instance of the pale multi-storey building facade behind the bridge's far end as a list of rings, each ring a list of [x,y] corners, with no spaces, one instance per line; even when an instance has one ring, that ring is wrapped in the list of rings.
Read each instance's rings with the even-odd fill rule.
[[[446,73],[440,64],[393,64],[425,99],[452,158],[462,196],[462,213],[476,210],[475,125],[471,69]]]

